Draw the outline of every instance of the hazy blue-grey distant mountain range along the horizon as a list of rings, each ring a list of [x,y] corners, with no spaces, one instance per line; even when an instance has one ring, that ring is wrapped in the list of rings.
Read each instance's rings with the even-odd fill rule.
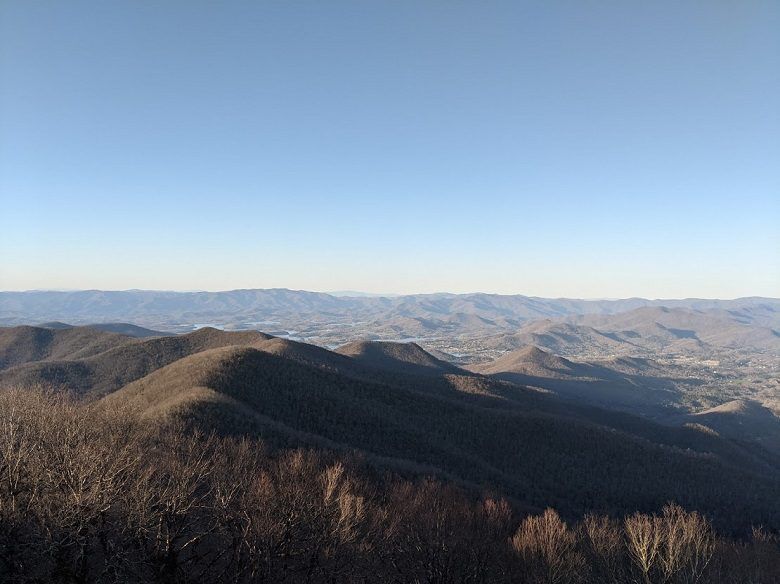
[[[210,324],[282,335],[298,334],[303,338],[333,334],[333,326],[359,325],[357,330],[362,336],[393,339],[515,333],[529,321],[585,315],[609,316],[645,307],[716,311],[722,318],[738,324],[758,325],[771,330],[780,327],[780,300],[773,298],[577,300],[445,293],[356,297],[287,289],[0,292],[0,324],[123,321],[177,332]],[[574,324],[598,329],[600,323],[597,319],[585,319]],[[674,330],[667,333],[678,336],[679,332],[675,333],[675,330],[684,329],[677,326],[670,328]]]

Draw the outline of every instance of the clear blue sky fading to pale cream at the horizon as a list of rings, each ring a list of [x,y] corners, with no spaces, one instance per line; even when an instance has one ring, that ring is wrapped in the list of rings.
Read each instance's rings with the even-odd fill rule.
[[[0,2],[0,289],[780,296],[780,3]]]

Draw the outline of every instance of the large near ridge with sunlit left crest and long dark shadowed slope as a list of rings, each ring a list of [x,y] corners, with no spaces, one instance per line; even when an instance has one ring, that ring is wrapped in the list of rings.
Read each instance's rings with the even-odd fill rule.
[[[185,357],[104,399],[147,421],[357,451],[397,470],[491,485],[535,507],[619,512],[676,500],[721,516],[730,505],[729,521],[780,524],[776,478],[762,478],[739,456],[715,454],[736,448],[722,439],[658,427],[665,437],[654,442],[646,437],[656,431],[652,424],[636,420],[645,426],[640,434],[621,427],[630,417],[609,426],[457,394],[431,394],[424,378],[418,389],[372,383],[224,347]]]

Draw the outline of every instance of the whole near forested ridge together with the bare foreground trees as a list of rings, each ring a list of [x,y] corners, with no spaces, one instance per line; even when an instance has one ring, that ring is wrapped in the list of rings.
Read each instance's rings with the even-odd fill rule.
[[[0,335],[0,581],[780,577],[760,448],[419,347],[66,333]]]

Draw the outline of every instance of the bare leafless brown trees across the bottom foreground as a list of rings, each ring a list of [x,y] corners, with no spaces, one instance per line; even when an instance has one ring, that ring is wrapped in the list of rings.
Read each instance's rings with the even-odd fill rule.
[[[772,583],[780,544],[761,529],[719,538],[673,504],[521,517],[344,456],[7,390],[0,581]]]

